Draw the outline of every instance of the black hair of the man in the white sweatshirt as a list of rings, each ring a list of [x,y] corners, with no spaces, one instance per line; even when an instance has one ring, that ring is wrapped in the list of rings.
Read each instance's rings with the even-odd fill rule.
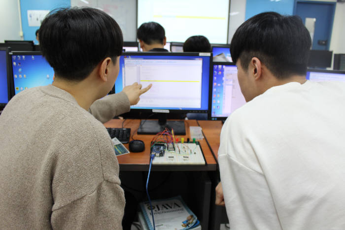
[[[247,70],[257,57],[278,79],[306,75],[311,36],[298,16],[265,12],[245,21],[230,46],[234,63],[241,60]]]

